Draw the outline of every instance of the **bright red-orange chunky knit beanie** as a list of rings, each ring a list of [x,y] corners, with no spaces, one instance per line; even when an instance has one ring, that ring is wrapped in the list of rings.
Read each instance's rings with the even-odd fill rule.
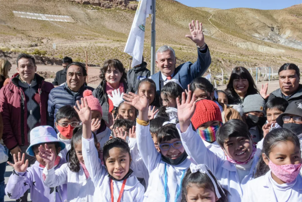
[[[216,103],[211,100],[202,99],[196,103],[196,109],[191,118],[195,129],[208,121],[222,122],[221,112]]]

